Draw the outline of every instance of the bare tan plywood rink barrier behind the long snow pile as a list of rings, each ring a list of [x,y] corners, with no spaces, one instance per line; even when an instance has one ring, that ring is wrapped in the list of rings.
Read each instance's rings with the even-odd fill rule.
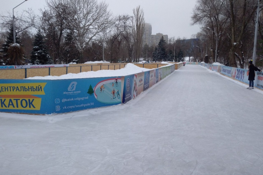
[[[20,66],[0,66],[1,79],[25,79],[34,76],[61,76],[65,74],[78,74],[80,72],[98,70],[118,70],[122,69],[127,63],[95,63],[95,64],[67,64],[67,65],[20,65]],[[138,64],[140,68],[154,69],[167,64],[161,62]],[[181,63],[174,63],[175,69],[179,69]]]

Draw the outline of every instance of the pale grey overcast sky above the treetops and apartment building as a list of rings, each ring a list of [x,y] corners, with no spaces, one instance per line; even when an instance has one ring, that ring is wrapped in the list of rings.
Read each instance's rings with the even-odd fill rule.
[[[0,13],[6,14],[6,11],[12,13],[12,9],[21,2],[23,0],[3,1]],[[145,22],[152,24],[152,34],[163,33],[167,34],[169,38],[186,37],[189,39],[192,34],[199,32],[199,26],[190,25],[192,9],[196,0],[106,0],[105,2],[109,4],[109,10],[115,15],[133,15],[133,8],[140,5],[144,11]],[[39,14],[39,9],[44,8],[45,4],[45,0],[28,0],[15,8],[14,12],[32,8]]]

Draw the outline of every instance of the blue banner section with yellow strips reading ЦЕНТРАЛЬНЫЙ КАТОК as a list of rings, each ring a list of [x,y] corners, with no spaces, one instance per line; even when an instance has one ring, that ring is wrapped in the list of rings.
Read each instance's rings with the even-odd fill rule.
[[[51,114],[51,80],[11,80],[0,83],[0,112]]]

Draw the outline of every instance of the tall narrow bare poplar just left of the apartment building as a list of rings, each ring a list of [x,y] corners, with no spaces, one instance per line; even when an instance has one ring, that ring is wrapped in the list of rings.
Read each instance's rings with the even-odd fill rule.
[[[134,20],[133,20],[133,31],[136,33],[136,39],[134,44],[135,51],[135,62],[138,62],[140,58],[140,53],[142,50],[142,38],[145,26],[144,12],[143,9],[138,6],[136,9],[133,9]]]

